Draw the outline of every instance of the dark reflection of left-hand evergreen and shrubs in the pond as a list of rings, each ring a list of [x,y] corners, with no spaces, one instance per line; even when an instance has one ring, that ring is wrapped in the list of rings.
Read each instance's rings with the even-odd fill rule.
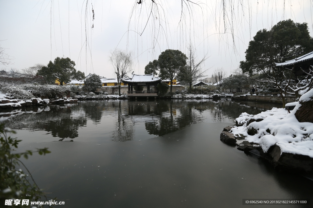
[[[49,112],[38,111],[34,107],[33,111],[37,113],[25,113],[8,119],[5,125],[13,129],[44,130],[51,132],[53,137],[59,137],[61,141],[64,138],[78,137],[78,128],[87,123],[84,115],[72,111],[80,112],[78,105],[57,106],[50,105]]]

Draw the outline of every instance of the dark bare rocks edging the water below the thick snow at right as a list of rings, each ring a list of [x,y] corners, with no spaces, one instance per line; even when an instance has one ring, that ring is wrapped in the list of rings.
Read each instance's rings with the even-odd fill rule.
[[[240,125],[240,124],[239,124]],[[264,152],[258,143],[248,142],[244,135],[235,136],[231,129],[235,126],[225,127],[220,135],[220,140],[236,145],[237,149],[246,153],[253,153],[268,160],[274,167],[285,170],[313,173],[313,158],[307,155],[293,154],[281,151],[278,145],[273,145],[267,152]]]

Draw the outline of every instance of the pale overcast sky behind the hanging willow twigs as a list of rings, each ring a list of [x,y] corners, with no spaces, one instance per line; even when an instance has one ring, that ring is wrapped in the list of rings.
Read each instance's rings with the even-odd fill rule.
[[[285,13],[282,0],[241,1],[245,2],[243,7],[237,7],[235,3],[233,23],[226,21],[224,34],[217,34],[224,31],[219,1],[203,0],[206,4],[201,9],[193,7],[193,22],[188,21],[188,12],[183,12],[185,16],[181,24],[178,24],[180,1],[156,2],[161,3],[164,15],[150,17],[146,24],[151,9],[149,0],[142,4],[133,0],[90,0],[86,19],[86,56],[85,1],[52,0],[51,4],[47,0],[0,0],[0,44],[13,58],[12,65],[0,65],[0,69],[21,70],[37,63],[47,65],[59,56],[70,57],[75,61],[76,69],[85,74],[96,73],[110,78],[114,76],[109,62],[110,51],[117,47],[132,51],[132,69],[136,74],[143,74],[146,64],[157,59],[162,51],[170,48],[185,53],[190,39],[199,58],[208,57],[203,65],[207,75],[212,75],[213,70],[220,67],[230,75],[239,66],[239,61],[244,60],[249,41],[260,29],[270,29],[277,22],[291,18],[296,22],[307,22],[312,36],[310,0],[285,2]],[[93,22],[92,8],[95,13]],[[225,11],[228,20],[232,19],[230,10],[228,5]],[[159,19],[162,28],[157,33]]]

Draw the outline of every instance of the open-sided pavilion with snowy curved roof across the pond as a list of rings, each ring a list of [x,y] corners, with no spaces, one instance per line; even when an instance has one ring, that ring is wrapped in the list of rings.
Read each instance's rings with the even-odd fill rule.
[[[154,77],[153,73],[149,75],[135,75],[131,78],[122,79],[124,84],[128,84],[128,97],[155,97],[158,95],[156,91],[156,85],[161,83],[161,78]],[[146,86],[147,90],[133,90],[133,86]],[[154,86],[154,90],[150,90],[150,87]],[[138,88],[137,88],[138,89]]]

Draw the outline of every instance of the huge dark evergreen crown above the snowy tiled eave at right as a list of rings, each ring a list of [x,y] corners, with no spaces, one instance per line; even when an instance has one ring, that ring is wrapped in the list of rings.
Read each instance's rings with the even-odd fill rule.
[[[260,30],[249,42],[245,51],[246,60],[240,61],[240,68],[250,75],[268,74],[275,63],[302,56],[313,50],[313,38],[310,37],[307,23],[295,23],[292,20],[278,22],[271,30]]]

